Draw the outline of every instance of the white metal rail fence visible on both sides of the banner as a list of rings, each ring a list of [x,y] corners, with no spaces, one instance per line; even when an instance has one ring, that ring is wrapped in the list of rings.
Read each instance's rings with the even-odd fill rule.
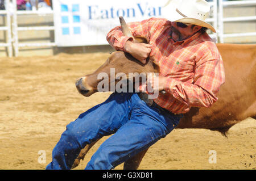
[[[53,10],[47,12],[42,11],[17,11],[16,0],[5,0],[6,10],[1,10],[0,15],[6,16],[6,25],[0,27],[0,31],[7,32],[6,43],[0,43],[0,47],[6,47],[7,54],[9,57],[18,56],[20,47],[54,47],[55,42],[49,43],[20,43],[18,32],[19,31],[53,31],[54,26],[36,26],[36,27],[18,27],[18,16],[19,15],[53,15]],[[224,7],[242,7],[242,6],[256,6],[256,0],[246,1],[222,1],[212,0],[210,6],[212,7],[210,18],[206,19],[208,23],[211,23],[216,28],[217,33],[210,34],[210,37],[215,38],[217,43],[224,43],[225,37],[243,37],[243,36],[256,36],[256,32],[245,32],[245,33],[224,33],[225,22],[255,22],[256,16],[238,16],[238,17],[223,17]],[[11,20],[13,23],[11,23]]]

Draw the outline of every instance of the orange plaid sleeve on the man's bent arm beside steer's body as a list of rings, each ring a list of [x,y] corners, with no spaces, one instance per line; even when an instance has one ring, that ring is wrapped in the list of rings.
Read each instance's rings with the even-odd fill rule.
[[[201,48],[193,83],[168,79],[164,86],[174,98],[189,107],[210,107],[217,101],[217,92],[225,82],[223,62],[216,45],[205,43]]]

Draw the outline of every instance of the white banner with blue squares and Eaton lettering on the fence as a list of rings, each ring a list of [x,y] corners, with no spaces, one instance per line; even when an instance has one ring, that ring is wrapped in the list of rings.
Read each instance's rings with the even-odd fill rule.
[[[119,26],[119,16],[126,22],[163,17],[162,6],[166,2],[54,0],[55,42],[59,47],[106,45],[107,33]]]

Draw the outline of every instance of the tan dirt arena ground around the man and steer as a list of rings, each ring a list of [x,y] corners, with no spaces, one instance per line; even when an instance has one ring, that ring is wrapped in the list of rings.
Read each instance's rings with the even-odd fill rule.
[[[109,92],[85,98],[75,87],[77,78],[91,73],[108,56],[0,58],[0,169],[45,169],[65,126],[108,98]],[[106,138],[76,169],[85,168]],[[256,121],[251,118],[234,125],[228,138],[206,129],[175,129],[151,146],[139,169],[255,169],[255,140]],[[209,163],[210,150],[216,151],[216,163]],[[42,153],[46,163],[40,159]]]

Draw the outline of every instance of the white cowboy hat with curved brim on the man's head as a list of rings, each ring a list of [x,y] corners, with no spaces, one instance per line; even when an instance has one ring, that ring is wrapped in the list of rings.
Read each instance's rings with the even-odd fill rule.
[[[166,15],[168,14],[168,19],[171,22],[195,24],[216,32],[213,26],[205,22],[210,12],[210,5],[207,1],[169,0],[166,5],[164,5],[163,12]]]

